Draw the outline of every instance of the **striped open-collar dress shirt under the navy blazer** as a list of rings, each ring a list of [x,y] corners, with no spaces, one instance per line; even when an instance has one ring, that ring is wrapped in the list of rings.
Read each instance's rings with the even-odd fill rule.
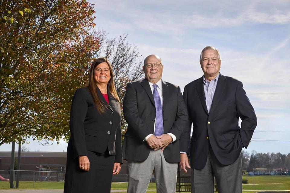
[[[215,89],[217,88],[219,76],[220,76],[220,73],[218,73],[218,75],[211,81],[206,80],[205,76],[203,76],[203,88],[205,90],[205,103],[208,109],[208,113],[211,110],[211,103],[212,103],[212,99],[214,98]]]

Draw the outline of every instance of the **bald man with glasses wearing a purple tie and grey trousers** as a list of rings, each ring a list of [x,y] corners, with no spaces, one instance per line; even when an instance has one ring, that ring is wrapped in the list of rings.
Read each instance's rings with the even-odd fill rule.
[[[159,56],[147,56],[143,71],[146,78],[128,83],[124,97],[128,128],[122,148],[129,170],[127,192],[145,193],[153,172],[157,192],[175,193],[186,107],[180,88],[161,80]]]

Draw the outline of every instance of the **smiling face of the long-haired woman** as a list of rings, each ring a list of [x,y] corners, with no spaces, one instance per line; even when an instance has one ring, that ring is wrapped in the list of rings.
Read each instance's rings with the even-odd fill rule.
[[[110,69],[107,62],[102,62],[98,64],[94,69],[94,80],[95,83],[108,83],[110,81]]]

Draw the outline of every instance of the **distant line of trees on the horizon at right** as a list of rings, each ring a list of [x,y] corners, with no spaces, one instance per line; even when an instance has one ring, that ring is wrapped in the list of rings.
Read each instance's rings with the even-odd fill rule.
[[[253,171],[253,168],[267,168],[269,170],[281,168],[283,170],[290,169],[290,153],[257,153],[253,151],[250,155],[242,150],[242,167],[243,170]]]

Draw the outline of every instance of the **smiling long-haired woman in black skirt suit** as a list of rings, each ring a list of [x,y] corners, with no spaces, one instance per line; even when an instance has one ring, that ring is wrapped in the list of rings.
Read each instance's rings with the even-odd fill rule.
[[[110,192],[123,159],[120,99],[107,59],[96,59],[89,86],[76,90],[69,128],[64,192]]]

